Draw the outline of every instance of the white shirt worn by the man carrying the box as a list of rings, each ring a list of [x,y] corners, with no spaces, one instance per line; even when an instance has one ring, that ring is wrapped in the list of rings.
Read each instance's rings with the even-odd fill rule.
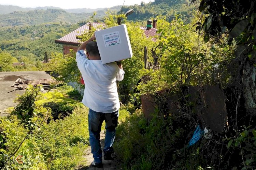
[[[116,81],[123,80],[125,72],[114,62],[102,64],[101,60],[89,60],[85,50],[76,52],[76,62],[85,83],[82,103],[96,112],[117,111],[120,103]]]

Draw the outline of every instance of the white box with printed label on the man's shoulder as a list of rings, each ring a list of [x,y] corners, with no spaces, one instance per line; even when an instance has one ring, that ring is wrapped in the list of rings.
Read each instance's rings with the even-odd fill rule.
[[[125,24],[95,31],[103,64],[132,57],[131,44]]]

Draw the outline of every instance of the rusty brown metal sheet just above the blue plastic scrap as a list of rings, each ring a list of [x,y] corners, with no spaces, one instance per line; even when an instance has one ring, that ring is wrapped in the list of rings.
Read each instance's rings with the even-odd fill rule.
[[[228,114],[223,91],[218,86],[189,86],[188,91],[202,124],[222,133]]]

